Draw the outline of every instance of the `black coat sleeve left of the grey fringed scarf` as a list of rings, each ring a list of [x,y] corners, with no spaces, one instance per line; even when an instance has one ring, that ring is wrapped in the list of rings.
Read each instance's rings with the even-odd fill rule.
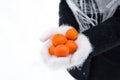
[[[59,25],[63,25],[63,24],[72,26],[79,31],[79,25],[71,9],[67,5],[66,0],[61,0],[59,5]]]

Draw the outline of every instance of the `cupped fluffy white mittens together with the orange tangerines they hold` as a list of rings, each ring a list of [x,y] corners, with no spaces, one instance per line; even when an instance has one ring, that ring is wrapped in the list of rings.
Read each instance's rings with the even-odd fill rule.
[[[73,29],[73,32],[69,34],[70,29]],[[70,26],[61,26],[51,29],[41,37],[41,41],[46,43],[42,47],[40,54],[49,67],[70,68],[80,66],[88,57],[92,51],[88,38],[74,30]],[[54,40],[55,35],[57,35],[56,40]],[[65,37],[59,39],[61,35]],[[50,46],[52,46],[53,51],[50,50]]]

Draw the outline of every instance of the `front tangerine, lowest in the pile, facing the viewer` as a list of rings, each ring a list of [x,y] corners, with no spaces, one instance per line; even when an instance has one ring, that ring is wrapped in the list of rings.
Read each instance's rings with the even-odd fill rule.
[[[69,55],[69,48],[65,45],[58,45],[55,47],[54,55],[57,57],[66,57]]]

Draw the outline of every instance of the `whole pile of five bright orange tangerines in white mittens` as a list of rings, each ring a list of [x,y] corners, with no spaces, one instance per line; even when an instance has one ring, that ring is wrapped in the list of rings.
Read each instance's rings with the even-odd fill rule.
[[[77,50],[75,40],[78,32],[74,28],[66,31],[65,35],[55,34],[52,37],[52,45],[49,47],[49,54],[57,57],[66,57]]]

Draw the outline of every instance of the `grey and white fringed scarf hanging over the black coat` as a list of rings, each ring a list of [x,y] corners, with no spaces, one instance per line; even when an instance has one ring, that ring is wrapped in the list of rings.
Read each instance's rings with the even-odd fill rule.
[[[116,11],[120,0],[66,0],[83,32],[104,22]]]

